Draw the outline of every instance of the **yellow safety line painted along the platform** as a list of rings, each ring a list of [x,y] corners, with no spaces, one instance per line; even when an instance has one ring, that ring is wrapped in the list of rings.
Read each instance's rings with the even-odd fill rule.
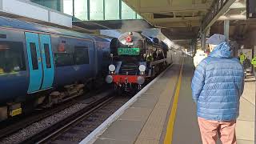
[[[179,91],[180,91],[180,88],[181,88],[181,85],[182,85],[183,63],[184,63],[184,59],[182,61],[182,68],[179,72],[178,85],[177,85],[177,88],[176,88],[176,91],[175,91],[174,102],[173,102],[173,106],[172,106],[171,112],[170,112],[170,117],[169,117],[169,120],[168,120],[168,125],[167,125],[166,137],[165,137],[164,144],[171,144],[172,140],[173,140],[174,121],[175,121],[176,111],[177,111],[177,106],[178,106],[178,96],[179,96]]]

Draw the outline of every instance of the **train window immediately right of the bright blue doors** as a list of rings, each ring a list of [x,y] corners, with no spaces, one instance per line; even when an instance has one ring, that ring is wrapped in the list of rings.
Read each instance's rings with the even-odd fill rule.
[[[56,66],[72,66],[74,65],[74,54],[57,53],[55,54]]]

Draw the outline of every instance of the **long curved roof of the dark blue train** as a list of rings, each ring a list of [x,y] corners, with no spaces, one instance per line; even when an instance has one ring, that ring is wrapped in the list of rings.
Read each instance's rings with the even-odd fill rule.
[[[32,30],[32,31],[40,31],[44,33],[50,34],[60,34],[65,36],[71,36],[76,38],[91,38],[91,39],[98,39],[101,41],[110,42],[106,38],[99,38],[98,36],[91,36],[90,34],[79,33],[76,31],[60,29],[52,26],[44,26],[40,24],[36,24],[33,22],[25,22],[14,18],[6,18],[0,17],[0,26],[7,27],[7,28],[14,28],[14,29],[21,29],[21,30]]]

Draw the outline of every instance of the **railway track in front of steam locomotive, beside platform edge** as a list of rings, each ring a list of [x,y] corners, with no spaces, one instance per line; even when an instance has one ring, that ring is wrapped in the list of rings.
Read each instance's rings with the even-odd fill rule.
[[[81,142],[83,138],[86,138],[87,135],[101,125],[111,114],[114,114],[114,112],[129,99],[128,97],[112,96],[106,98],[106,100],[99,102],[98,105],[91,107],[90,110],[86,110],[86,112],[78,118],[73,118],[73,120],[70,118],[70,120],[72,120],[71,122],[61,126],[58,130],[55,130],[46,137],[39,136],[39,139],[42,139],[35,143],[62,144]]]

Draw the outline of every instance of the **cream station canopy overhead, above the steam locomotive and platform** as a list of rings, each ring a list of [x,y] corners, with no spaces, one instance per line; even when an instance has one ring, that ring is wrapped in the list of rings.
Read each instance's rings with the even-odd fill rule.
[[[245,0],[123,0],[171,39],[190,39],[216,21],[245,19]]]

